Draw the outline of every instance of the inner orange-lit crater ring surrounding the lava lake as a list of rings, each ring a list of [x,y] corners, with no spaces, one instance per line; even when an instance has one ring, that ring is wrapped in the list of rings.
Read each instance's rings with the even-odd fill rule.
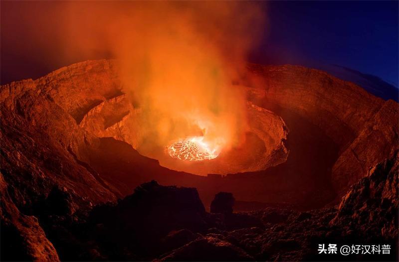
[[[251,102],[247,102],[246,114],[248,130],[240,144],[222,148],[218,155],[200,152],[201,156],[197,156],[199,159],[184,153],[174,155],[174,152],[171,152],[171,145],[177,143],[177,146],[181,146],[178,145],[181,139],[167,145],[148,143],[151,138],[139,124],[142,111],[140,108],[134,108],[125,95],[93,107],[80,126],[98,137],[112,136],[125,141],[140,154],[157,159],[162,166],[198,175],[259,171],[284,162],[289,153],[284,144],[288,128],[281,117]],[[119,121],[110,120],[120,115],[124,117]],[[115,124],[106,127],[104,123],[109,122]]]

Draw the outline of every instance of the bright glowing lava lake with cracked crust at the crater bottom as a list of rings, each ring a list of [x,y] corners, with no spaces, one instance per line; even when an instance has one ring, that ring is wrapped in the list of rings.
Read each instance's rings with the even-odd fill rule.
[[[203,141],[202,136],[179,140],[168,147],[168,153],[173,158],[189,161],[201,161],[217,157],[216,149]]]

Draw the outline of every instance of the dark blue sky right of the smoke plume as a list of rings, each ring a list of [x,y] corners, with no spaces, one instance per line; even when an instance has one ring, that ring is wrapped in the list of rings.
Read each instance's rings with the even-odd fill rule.
[[[398,1],[271,1],[268,35],[251,60],[336,64],[398,87]]]

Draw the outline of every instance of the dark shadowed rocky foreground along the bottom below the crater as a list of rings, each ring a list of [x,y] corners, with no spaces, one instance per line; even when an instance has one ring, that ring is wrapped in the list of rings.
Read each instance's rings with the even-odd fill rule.
[[[195,188],[151,181],[117,203],[85,213],[70,216],[73,207],[64,205],[63,213],[39,214],[48,240],[42,230],[17,228],[19,238],[13,245],[2,246],[2,258],[12,260],[15,249],[34,238],[36,249],[19,251],[20,260],[57,260],[57,250],[59,258],[66,261],[334,261],[339,255],[317,255],[318,244],[384,243],[391,245],[391,255],[347,259],[393,261],[398,245],[398,201],[396,191],[387,194],[387,190],[398,188],[398,163],[398,159],[390,159],[377,165],[351,187],[338,209],[308,212],[266,208],[212,214],[205,211]],[[51,199],[45,201],[67,203],[68,195],[57,195],[57,200],[49,195]],[[368,205],[373,207],[371,216],[362,213]],[[2,220],[10,230],[4,211]],[[25,223],[36,223],[39,228],[36,219]],[[2,234],[10,233],[2,230]],[[8,236],[2,235],[2,239]],[[43,252],[34,253],[37,248]]]

